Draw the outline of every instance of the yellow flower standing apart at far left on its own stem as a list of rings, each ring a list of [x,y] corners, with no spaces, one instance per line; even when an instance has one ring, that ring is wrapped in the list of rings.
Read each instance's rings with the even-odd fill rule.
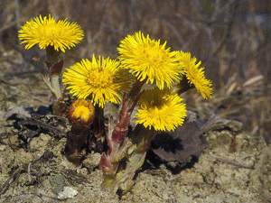
[[[50,14],[31,19],[19,30],[19,40],[25,44],[26,50],[38,44],[42,50],[51,46],[56,51],[65,52],[75,47],[83,37],[84,33],[78,23],[70,23],[67,19],[56,22]]]

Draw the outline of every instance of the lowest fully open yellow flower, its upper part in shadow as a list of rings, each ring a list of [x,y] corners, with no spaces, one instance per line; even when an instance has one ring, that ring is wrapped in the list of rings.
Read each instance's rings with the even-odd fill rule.
[[[135,123],[156,131],[172,131],[183,124],[186,117],[182,97],[168,90],[145,90],[139,100]]]

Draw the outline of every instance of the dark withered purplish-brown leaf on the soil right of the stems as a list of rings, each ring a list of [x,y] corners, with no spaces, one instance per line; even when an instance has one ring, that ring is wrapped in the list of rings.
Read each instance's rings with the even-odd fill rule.
[[[218,116],[212,116],[208,121],[196,120],[195,116],[190,116],[188,122],[173,133],[157,134],[152,141],[152,151],[162,161],[171,165],[174,165],[173,162],[185,165],[197,160],[206,148],[204,133],[210,130],[226,129],[234,134],[241,128],[241,124],[237,121],[222,119]]]

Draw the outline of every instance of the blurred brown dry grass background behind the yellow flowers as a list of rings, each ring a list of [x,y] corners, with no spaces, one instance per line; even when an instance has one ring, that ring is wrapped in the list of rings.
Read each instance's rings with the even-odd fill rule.
[[[118,42],[139,30],[167,41],[173,50],[191,51],[206,67],[215,95],[202,101],[189,92],[184,96],[188,108],[203,117],[238,120],[250,134],[271,142],[270,0],[1,0],[0,86],[8,101],[22,92],[14,88],[17,96],[11,96],[10,83],[15,87],[16,80],[27,78],[37,86],[34,78],[44,69],[38,63],[44,53],[24,51],[17,39],[20,26],[39,14],[68,18],[85,31],[84,41],[68,51],[65,66],[92,53],[116,57]],[[46,88],[29,89],[24,88],[29,97],[44,102]]]

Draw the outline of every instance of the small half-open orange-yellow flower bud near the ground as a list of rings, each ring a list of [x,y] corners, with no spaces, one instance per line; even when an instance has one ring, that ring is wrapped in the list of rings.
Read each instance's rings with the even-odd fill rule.
[[[89,125],[94,119],[95,108],[91,102],[85,99],[78,99],[70,106],[70,120],[74,123]]]

